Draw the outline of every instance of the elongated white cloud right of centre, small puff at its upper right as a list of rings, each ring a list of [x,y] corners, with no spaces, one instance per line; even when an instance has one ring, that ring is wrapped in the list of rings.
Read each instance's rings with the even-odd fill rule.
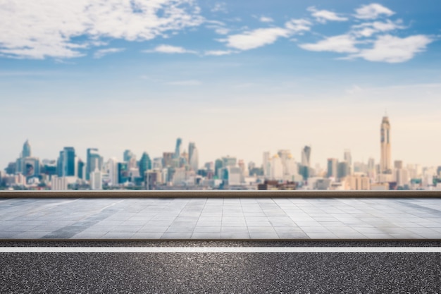
[[[264,45],[273,44],[279,37],[290,37],[293,34],[310,30],[311,23],[308,20],[292,19],[285,23],[285,27],[268,27],[244,32],[242,34],[230,35],[226,42],[228,47],[240,50],[249,50]]]

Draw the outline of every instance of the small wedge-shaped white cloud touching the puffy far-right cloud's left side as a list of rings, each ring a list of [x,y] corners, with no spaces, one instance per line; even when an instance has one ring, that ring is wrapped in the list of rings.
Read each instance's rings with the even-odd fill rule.
[[[299,47],[310,51],[333,51],[340,53],[355,53],[359,49],[355,47],[356,39],[351,35],[338,35],[328,37],[317,43],[299,44]]]

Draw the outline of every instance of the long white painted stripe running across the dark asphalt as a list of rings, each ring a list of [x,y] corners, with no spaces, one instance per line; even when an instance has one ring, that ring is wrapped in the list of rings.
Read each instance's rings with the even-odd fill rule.
[[[441,253],[441,247],[0,247],[0,253]]]

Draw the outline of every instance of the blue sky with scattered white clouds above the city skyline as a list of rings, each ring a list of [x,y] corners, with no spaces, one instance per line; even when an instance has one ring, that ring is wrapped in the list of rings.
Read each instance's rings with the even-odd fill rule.
[[[438,1],[0,0],[0,168],[29,140],[56,159],[125,149],[161,157],[181,137],[199,163],[441,166]]]

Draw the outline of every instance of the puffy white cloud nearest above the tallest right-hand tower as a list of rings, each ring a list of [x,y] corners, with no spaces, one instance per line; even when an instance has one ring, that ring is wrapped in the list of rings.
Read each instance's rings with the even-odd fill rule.
[[[368,61],[399,63],[412,59],[418,52],[424,51],[433,39],[425,35],[414,35],[400,38],[391,35],[380,36],[371,49],[362,49],[349,59],[361,57]]]

